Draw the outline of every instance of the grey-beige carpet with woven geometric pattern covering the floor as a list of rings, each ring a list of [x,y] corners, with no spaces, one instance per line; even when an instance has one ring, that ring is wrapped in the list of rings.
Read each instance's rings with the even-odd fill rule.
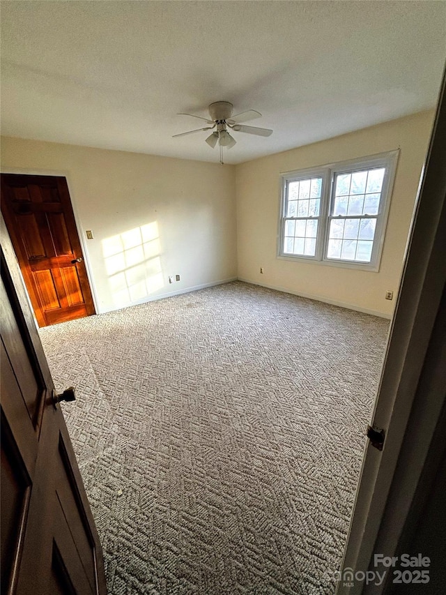
[[[109,594],[333,593],[387,329],[240,282],[41,329]]]

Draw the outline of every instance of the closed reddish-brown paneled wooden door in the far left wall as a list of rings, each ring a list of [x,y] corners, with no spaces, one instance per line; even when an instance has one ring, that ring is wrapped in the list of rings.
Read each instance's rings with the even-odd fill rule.
[[[1,174],[1,211],[39,326],[94,314],[66,179]]]

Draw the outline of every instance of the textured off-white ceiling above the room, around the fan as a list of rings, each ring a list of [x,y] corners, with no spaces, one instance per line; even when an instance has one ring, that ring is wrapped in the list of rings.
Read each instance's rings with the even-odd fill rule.
[[[180,158],[218,155],[178,112],[261,112],[240,163],[433,107],[446,58],[443,1],[1,4],[3,135]]]

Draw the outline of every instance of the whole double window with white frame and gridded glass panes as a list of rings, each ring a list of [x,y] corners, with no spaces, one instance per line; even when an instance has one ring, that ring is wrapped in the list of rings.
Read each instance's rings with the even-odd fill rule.
[[[279,257],[377,271],[397,156],[283,174]]]

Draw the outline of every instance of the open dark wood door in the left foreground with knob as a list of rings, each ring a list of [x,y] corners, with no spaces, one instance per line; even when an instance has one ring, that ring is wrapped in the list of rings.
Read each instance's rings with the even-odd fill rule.
[[[103,595],[98,533],[3,219],[0,291],[1,593]]]

